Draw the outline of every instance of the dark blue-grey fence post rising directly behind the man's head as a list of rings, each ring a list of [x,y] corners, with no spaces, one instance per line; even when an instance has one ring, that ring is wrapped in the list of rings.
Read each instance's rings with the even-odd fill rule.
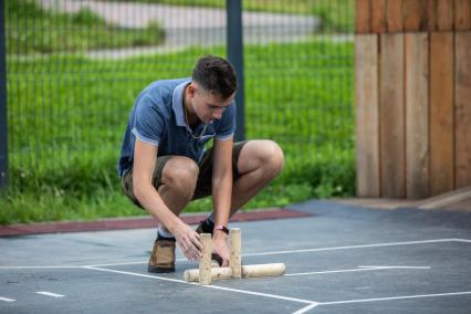
[[[242,0],[226,0],[228,21],[228,59],[236,69],[238,76],[237,129],[234,139],[245,139],[245,104],[243,85],[243,41],[242,41]]]

